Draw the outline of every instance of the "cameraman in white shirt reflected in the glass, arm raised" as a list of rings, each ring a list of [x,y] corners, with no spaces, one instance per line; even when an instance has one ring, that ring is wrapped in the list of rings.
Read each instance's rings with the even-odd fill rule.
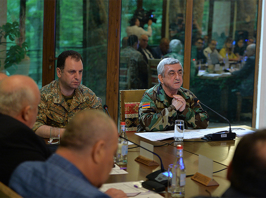
[[[142,34],[145,34],[148,37],[151,37],[151,35],[152,35],[152,28],[151,28],[152,20],[151,19],[148,20],[147,31],[145,31],[142,27],[139,27],[140,22],[139,22],[138,18],[133,17],[129,23],[130,23],[130,26],[128,26],[126,29],[128,37],[130,35],[136,35],[138,38],[140,38]]]

